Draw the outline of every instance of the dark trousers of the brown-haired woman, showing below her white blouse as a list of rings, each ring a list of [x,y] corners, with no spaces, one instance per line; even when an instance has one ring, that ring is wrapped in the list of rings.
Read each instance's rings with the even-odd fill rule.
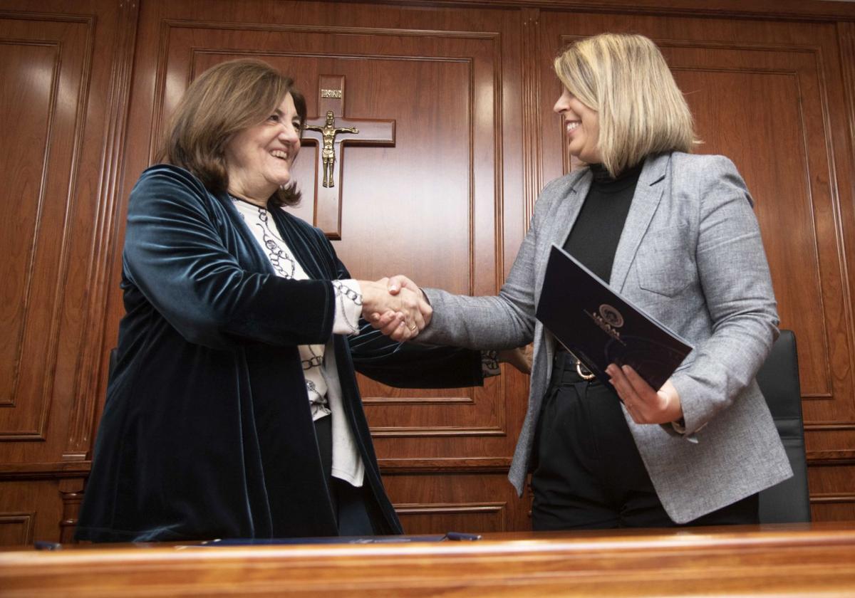
[[[315,435],[318,448],[321,449],[321,465],[330,498],[333,501],[333,511],[339,524],[339,536],[373,536],[374,525],[371,524],[369,504],[366,501],[368,488],[351,486],[345,480],[333,478],[333,417],[327,415],[315,420]]]

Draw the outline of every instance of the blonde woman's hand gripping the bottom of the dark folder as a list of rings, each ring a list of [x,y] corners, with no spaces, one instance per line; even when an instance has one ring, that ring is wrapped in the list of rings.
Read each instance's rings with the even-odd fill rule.
[[[670,380],[657,391],[630,366],[612,363],[605,372],[636,424],[669,424],[683,417],[680,395]]]

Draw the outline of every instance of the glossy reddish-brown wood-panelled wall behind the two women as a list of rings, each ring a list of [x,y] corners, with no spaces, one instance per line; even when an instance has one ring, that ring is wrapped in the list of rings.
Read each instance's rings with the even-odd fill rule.
[[[569,167],[551,57],[574,38],[641,32],[687,94],[704,144],[756,200],[781,325],[799,339],[811,504],[855,519],[855,6],[760,0],[284,2],[0,0],[0,543],[65,540],[121,318],[127,194],[194,76],[257,56],[318,111],[394,120],[392,147],[349,147],[339,255],[357,278],[408,273],[498,289],[540,188]],[[296,174],[315,202],[316,147]],[[338,208],[336,208],[338,209]],[[528,379],[402,391],[363,380],[406,531],[528,529],[505,479]]]

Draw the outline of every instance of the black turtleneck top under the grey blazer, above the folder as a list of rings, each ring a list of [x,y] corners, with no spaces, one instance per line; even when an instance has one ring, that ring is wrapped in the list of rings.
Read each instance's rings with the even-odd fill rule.
[[[612,179],[602,164],[592,164],[591,189],[585,197],[567,241],[564,242],[564,250],[567,253],[585,264],[606,283],[611,277],[617,242],[621,239],[629,206],[633,202],[635,185],[638,184],[643,166],[644,162]]]

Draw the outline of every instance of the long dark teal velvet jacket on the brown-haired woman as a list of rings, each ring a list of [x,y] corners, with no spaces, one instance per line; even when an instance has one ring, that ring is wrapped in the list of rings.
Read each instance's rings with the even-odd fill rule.
[[[277,277],[231,200],[186,170],[150,167],[134,186],[126,314],[77,539],[338,535],[298,345],[327,343],[330,281],[351,276],[321,231],[272,214],[310,280]],[[355,370],[401,387],[471,386],[480,355],[400,345],[364,322],[334,350],[374,527],[400,533]]]

